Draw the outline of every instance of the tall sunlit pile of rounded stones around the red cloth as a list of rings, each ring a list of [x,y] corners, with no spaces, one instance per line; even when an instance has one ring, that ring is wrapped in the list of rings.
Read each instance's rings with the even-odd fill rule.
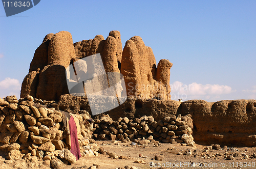
[[[62,131],[64,115],[39,102],[32,96],[19,100],[16,96],[0,98],[0,149],[8,150],[9,160],[33,157],[53,163],[52,166],[56,162],[74,163],[76,157],[66,145],[67,132]],[[90,144],[93,126],[88,122],[89,113],[74,116],[80,125],[77,137],[81,155],[97,155],[97,145]]]

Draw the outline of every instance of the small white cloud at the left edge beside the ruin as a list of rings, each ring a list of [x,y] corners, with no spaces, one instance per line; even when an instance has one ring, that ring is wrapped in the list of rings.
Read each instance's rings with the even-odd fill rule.
[[[19,80],[6,77],[4,80],[0,81],[0,97],[6,97],[10,95],[15,95],[19,98],[20,88],[22,84]]]

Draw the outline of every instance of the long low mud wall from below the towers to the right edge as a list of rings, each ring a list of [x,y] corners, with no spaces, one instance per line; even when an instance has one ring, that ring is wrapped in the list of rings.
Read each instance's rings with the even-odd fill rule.
[[[65,111],[79,112],[90,106],[86,97],[63,95],[53,104]],[[191,115],[196,143],[221,144],[230,146],[256,146],[256,100],[204,100],[140,99],[129,96],[120,106],[105,112],[114,121],[152,116],[155,121],[171,115]],[[96,116],[99,117],[99,116]],[[95,118],[96,118],[95,117]]]

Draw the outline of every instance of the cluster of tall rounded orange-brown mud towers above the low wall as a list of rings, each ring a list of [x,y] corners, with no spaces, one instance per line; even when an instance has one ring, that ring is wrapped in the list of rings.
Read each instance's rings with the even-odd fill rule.
[[[69,93],[66,68],[96,53],[101,55],[105,72],[123,74],[127,95],[170,99],[169,76],[173,64],[160,60],[156,66],[152,49],[138,36],[128,40],[122,49],[118,31],[111,31],[106,39],[97,35],[74,44],[66,31],[46,35],[34,53],[20,98],[31,95],[43,100],[59,100],[61,95]]]

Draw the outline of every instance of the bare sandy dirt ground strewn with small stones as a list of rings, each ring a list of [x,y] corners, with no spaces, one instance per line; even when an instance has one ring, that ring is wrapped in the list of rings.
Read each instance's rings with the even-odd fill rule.
[[[93,164],[99,168],[118,168],[126,165],[137,168],[256,168],[256,148],[224,147],[220,150],[210,150],[206,146],[195,145],[195,147],[182,146],[181,144],[154,144],[131,145],[127,143],[113,143],[112,141],[96,141],[99,147],[109,153],[116,153],[123,159],[113,159],[109,155],[99,154],[93,157],[82,157],[72,165],[63,166],[69,168],[89,168]],[[209,150],[206,150],[209,149]],[[254,154],[255,153],[255,154]],[[161,161],[155,160],[160,155]],[[142,162],[136,163],[135,161]],[[7,160],[8,161],[8,160]],[[5,156],[0,156],[0,168],[13,168],[13,164],[5,162]],[[40,168],[40,167],[39,167]],[[46,167],[49,168],[49,167]],[[20,167],[27,169],[27,167]]]

